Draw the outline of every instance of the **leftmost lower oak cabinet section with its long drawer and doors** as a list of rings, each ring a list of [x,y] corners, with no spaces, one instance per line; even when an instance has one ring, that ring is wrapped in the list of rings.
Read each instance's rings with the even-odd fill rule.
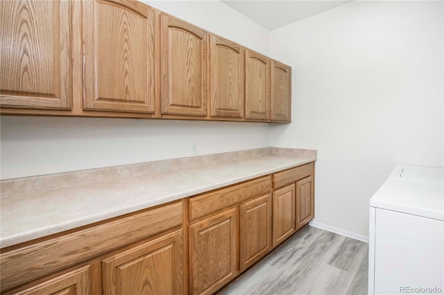
[[[184,294],[183,218],[181,200],[2,249],[1,293]]]

